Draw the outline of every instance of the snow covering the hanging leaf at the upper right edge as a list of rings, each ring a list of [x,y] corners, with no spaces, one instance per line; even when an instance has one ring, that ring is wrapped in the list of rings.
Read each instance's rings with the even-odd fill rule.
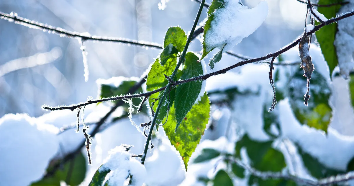
[[[354,4],[343,5],[338,14],[351,12]],[[334,45],[336,46],[338,66],[343,78],[349,78],[354,68],[354,17],[350,16],[338,21],[338,32]]]

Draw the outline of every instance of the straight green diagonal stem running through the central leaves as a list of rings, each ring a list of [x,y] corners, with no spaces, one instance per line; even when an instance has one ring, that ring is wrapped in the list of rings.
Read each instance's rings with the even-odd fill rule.
[[[201,11],[203,10],[204,3],[205,3],[205,0],[202,0],[201,3],[200,3],[199,10],[198,10],[197,16],[195,17],[192,30],[190,30],[190,34],[189,34],[189,36],[188,36],[187,43],[185,44],[184,49],[183,49],[183,53],[182,53],[182,55],[181,55],[181,58],[180,58],[180,60],[178,61],[177,66],[176,66],[175,70],[173,71],[173,73],[172,73],[172,75],[171,75],[171,79],[175,79],[175,76],[176,76],[176,74],[177,74],[177,71],[178,71],[179,66],[181,66],[181,64],[185,61],[185,54],[187,53],[187,50],[188,50],[188,46],[189,46],[190,41],[192,41],[193,33],[194,33],[194,30],[195,30],[195,27],[196,27],[197,24],[198,24],[198,20],[199,20]],[[165,89],[165,91],[164,91],[164,94],[163,94],[162,97],[161,97],[161,100],[164,100],[165,97],[167,96],[167,93],[168,93],[169,90],[170,90],[171,84],[172,84],[171,81],[169,81],[169,83],[167,83],[166,89]],[[155,123],[156,123],[156,119],[157,119],[157,117],[158,117],[158,114],[159,114],[159,112],[160,112],[160,108],[162,107],[162,105],[163,105],[163,102],[160,101],[158,107],[156,108],[155,115],[154,115],[153,121],[152,121],[151,126],[150,126],[148,138],[147,138],[146,143],[145,143],[145,148],[144,148],[144,152],[143,152],[143,154],[145,154],[145,156],[143,156],[143,157],[141,158],[141,164],[144,164],[144,162],[145,162],[145,157],[146,157],[146,154],[147,154],[148,148],[149,148],[150,138],[151,138],[151,135],[152,135],[152,133],[153,133],[154,126],[155,126]]]

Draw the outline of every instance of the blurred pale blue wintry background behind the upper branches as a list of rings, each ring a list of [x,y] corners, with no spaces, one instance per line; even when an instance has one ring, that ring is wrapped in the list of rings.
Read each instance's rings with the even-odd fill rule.
[[[303,32],[305,4],[296,0],[267,1],[267,20],[236,45],[234,52],[262,56],[279,50]],[[254,7],[259,0],[243,2]],[[159,10],[159,3],[159,0],[0,0],[0,11],[16,12],[18,16],[70,31],[160,44],[168,27],[180,26],[185,32],[190,31],[198,3],[170,0],[165,10]],[[206,11],[203,10],[200,20],[206,17]],[[6,113],[38,117],[47,112],[41,109],[44,104],[69,105],[86,101],[89,96],[95,98],[96,79],[140,77],[160,52],[118,43],[88,41],[84,45],[90,72],[87,82],[78,40],[0,19],[0,117]],[[194,40],[189,49],[200,52],[200,41]],[[222,61],[229,66],[237,60],[225,55]]]

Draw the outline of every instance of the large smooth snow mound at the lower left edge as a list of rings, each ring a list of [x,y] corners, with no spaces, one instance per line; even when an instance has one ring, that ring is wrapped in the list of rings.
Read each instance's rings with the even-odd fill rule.
[[[58,128],[27,114],[0,119],[0,185],[30,185],[41,179],[59,149]]]

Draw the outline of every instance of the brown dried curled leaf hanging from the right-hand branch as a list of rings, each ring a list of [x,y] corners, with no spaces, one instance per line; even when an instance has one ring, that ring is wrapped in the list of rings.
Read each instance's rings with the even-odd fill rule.
[[[299,56],[301,58],[301,68],[304,70],[304,76],[306,76],[307,79],[311,79],[314,69],[309,52],[309,42],[310,39],[305,32],[299,43]]]

